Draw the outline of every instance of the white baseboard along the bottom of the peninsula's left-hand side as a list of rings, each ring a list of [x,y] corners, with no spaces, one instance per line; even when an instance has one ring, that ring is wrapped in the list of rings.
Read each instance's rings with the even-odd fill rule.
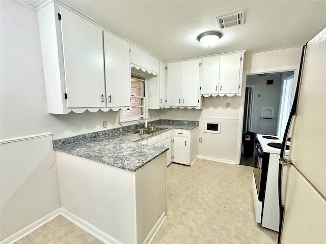
[[[122,244],[122,242],[118,241],[117,239],[113,238],[111,235],[106,234],[104,231],[96,228],[94,225],[86,222],[85,220],[79,218],[78,216],[72,214],[72,212],[68,211],[67,209],[61,207],[60,214],[65,217],[67,220],[70,220],[73,224],[78,226],[80,229],[85,230],[86,232],[93,235],[95,238],[99,239],[103,243],[106,244]]]

